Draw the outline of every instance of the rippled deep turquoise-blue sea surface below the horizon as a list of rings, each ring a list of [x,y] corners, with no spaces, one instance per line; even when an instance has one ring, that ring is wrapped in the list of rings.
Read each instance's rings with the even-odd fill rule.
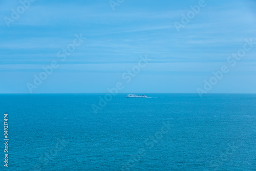
[[[256,170],[256,94],[104,95],[0,95],[1,170]]]

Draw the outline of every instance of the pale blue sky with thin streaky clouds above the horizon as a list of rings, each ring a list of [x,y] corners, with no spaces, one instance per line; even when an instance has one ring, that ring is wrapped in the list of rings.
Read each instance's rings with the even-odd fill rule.
[[[178,32],[174,23],[198,3],[124,0],[113,10],[108,0],[37,0],[8,27],[21,4],[1,1],[0,93],[30,93],[27,83],[53,60],[59,67],[33,93],[102,93],[117,82],[119,93],[197,93],[224,65],[230,72],[209,93],[256,93],[256,45],[236,66],[227,62],[245,39],[256,41],[256,1],[206,0]],[[86,38],[61,61],[75,34]],[[126,83],[122,74],[145,55],[151,61]]]

